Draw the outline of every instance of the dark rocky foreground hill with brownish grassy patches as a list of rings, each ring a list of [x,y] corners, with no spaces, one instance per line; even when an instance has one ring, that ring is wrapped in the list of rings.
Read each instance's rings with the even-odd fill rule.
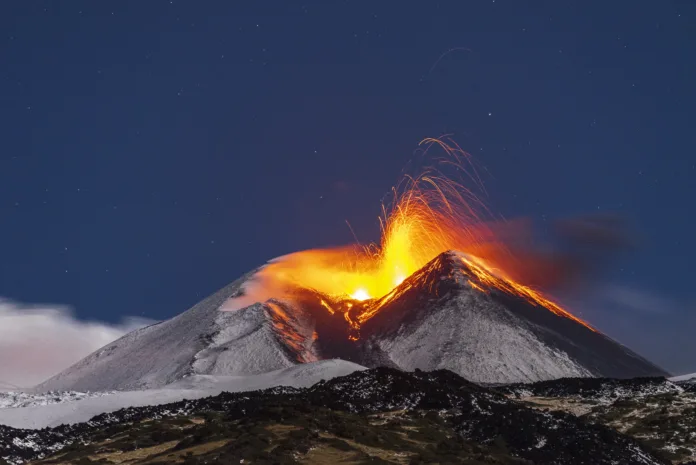
[[[446,370],[354,372],[310,388],[137,407],[43,430],[0,426],[0,463],[659,465],[649,446]]]

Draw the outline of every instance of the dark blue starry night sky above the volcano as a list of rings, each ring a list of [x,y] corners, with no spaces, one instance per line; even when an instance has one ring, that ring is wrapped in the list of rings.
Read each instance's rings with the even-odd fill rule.
[[[170,317],[345,220],[376,240],[451,133],[507,218],[629,218],[574,309],[696,370],[695,57],[688,0],[2,2],[0,296]]]

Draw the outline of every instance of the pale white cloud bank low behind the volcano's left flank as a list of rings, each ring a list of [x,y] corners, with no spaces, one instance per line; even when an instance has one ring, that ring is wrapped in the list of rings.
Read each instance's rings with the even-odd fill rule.
[[[81,321],[68,307],[0,299],[0,385],[31,387],[153,321]]]

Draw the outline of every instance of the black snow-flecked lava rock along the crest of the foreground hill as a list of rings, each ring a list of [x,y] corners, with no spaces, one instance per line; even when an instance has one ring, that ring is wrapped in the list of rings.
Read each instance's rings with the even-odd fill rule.
[[[0,457],[10,463],[22,463],[69,444],[94,442],[95,435],[110,427],[122,428],[124,424],[138,424],[144,420],[221,412],[229,421],[255,418],[283,421],[298,415],[283,412],[300,412],[312,417],[326,409],[360,418],[395,411],[407,412],[414,418],[432,418],[456,432],[449,443],[445,441],[439,447],[449,450],[478,444],[490,450],[505,451],[506,456],[523,460],[519,463],[525,463],[524,460],[558,465],[668,463],[633,439],[607,427],[589,424],[565,413],[533,410],[452,372],[406,373],[389,368],[356,372],[308,389],[223,393],[195,401],[129,408],[97,416],[87,423],[53,429],[1,428]],[[434,460],[433,457],[438,456],[431,456],[429,460]],[[440,455],[435,461],[448,461],[445,457]]]

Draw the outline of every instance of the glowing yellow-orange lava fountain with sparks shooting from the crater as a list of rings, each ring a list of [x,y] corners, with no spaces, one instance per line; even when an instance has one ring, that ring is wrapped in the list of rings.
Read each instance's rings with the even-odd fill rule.
[[[456,144],[426,139],[421,145],[426,152],[433,146],[442,148],[447,155],[440,160],[442,165],[465,173],[480,185],[467,154]],[[282,297],[295,289],[311,289],[337,301],[379,299],[442,252],[457,250],[465,254],[462,260],[477,281],[471,281],[473,288],[482,292],[486,287],[495,288],[517,295],[590,328],[518,282],[519,260],[496,237],[492,223],[482,220],[479,212],[487,213],[485,206],[463,184],[431,168],[417,177],[407,176],[393,189],[393,195],[392,207],[383,206],[379,245],[306,250],[280,257],[257,273],[261,294],[265,293],[266,298]],[[322,305],[333,313],[326,302]],[[347,312],[344,317],[357,329],[377,311],[373,307],[358,315],[357,321]]]

